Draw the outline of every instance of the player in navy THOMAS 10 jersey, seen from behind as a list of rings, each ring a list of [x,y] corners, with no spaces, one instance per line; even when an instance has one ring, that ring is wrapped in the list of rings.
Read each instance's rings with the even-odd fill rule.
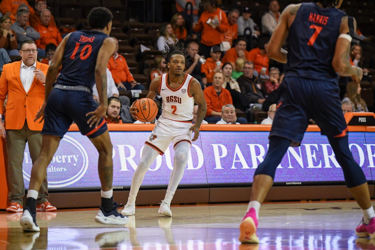
[[[73,121],[81,133],[92,141],[99,153],[102,205],[95,221],[123,225],[129,220],[117,213],[117,204],[113,202],[112,144],[103,117],[108,106],[106,69],[115,49],[114,40],[108,36],[111,32],[112,17],[112,13],[106,8],[92,9],[88,16],[92,30],[68,34],[57,47],[49,66],[45,82],[45,102],[35,118],[44,119],[42,148],[31,170],[27,206],[20,220],[20,225],[26,232],[40,230],[36,224],[35,194],[61,138]],[[56,81],[60,65],[62,70]],[[101,100],[98,108],[92,94],[95,83]]]

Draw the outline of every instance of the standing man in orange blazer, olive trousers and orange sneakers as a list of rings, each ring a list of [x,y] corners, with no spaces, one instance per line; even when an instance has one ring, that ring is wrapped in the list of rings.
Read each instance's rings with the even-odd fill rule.
[[[5,64],[0,77],[0,114],[5,106],[5,127],[0,122],[0,136],[6,130],[6,150],[8,156],[8,181],[10,206],[7,212],[23,211],[25,195],[22,164],[26,142],[31,161],[35,162],[40,153],[43,123],[34,122],[36,113],[44,102],[45,75],[48,65],[36,61],[36,44],[24,41],[20,46],[22,60]],[[48,207],[47,178],[39,190],[39,211]],[[50,206],[49,206],[50,207]]]

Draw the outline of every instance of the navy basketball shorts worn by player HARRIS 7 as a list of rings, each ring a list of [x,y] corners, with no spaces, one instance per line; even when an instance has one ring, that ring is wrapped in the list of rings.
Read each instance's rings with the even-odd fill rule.
[[[348,128],[337,84],[286,77],[279,88],[277,111],[270,136],[285,137],[300,144],[310,119],[320,127],[322,135],[346,135]]]

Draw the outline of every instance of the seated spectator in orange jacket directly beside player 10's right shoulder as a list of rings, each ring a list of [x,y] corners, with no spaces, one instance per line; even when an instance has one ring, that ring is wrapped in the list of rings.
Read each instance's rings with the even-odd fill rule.
[[[113,52],[110,60],[108,61],[108,69],[111,71],[115,84],[118,90],[144,90],[145,87],[138,84],[132,73],[130,73],[129,67],[127,66],[125,57],[118,54],[118,40],[116,37],[112,37],[116,42],[116,48]]]

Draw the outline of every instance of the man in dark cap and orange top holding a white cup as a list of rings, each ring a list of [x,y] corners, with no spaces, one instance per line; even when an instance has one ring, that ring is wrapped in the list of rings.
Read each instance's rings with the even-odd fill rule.
[[[220,61],[220,57],[220,46],[212,46],[211,57],[208,57],[206,62],[201,65],[202,82],[204,88],[212,84],[213,75],[221,70],[223,63]]]

